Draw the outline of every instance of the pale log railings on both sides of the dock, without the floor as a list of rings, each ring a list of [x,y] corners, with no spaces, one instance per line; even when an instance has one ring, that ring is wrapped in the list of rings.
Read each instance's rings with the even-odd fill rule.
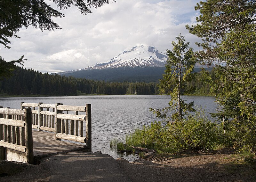
[[[54,132],[55,140],[85,143],[88,151],[92,151],[91,104],[67,106],[22,102],[20,109],[0,107],[0,160],[5,158],[4,148],[8,148],[26,153],[26,162],[33,164],[32,128]]]

